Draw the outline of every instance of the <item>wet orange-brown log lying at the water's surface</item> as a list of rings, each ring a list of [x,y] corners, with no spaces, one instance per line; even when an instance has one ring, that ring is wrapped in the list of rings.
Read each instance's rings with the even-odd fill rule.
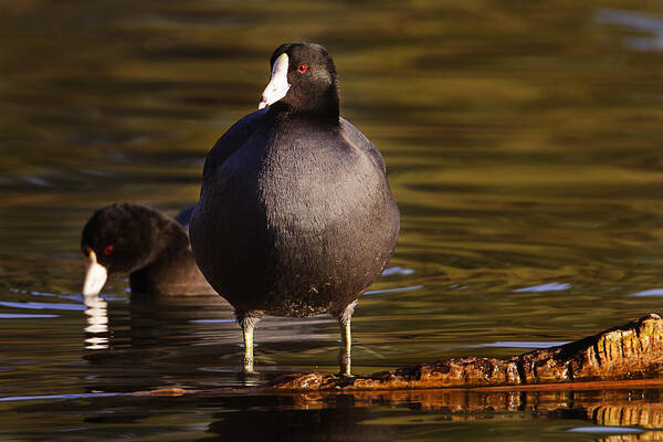
[[[649,314],[562,346],[505,359],[462,357],[369,376],[287,375],[269,389],[393,390],[654,379],[663,373],[663,319]]]

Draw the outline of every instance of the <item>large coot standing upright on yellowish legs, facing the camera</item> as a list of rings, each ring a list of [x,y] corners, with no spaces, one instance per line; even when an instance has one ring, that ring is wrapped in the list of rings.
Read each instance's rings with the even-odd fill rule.
[[[338,320],[349,375],[350,317],[389,261],[398,207],[385,162],[339,117],[336,67],[312,43],[283,44],[257,112],[235,123],[204,164],[191,217],[196,261],[234,307],[253,370],[263,315]],[[345,350],[345,352],[344,352]]]

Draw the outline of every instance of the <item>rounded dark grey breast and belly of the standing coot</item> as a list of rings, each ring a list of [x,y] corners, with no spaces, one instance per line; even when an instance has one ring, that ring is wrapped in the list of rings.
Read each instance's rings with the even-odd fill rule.
[[[244,146],[203,185],[203,273],[238,308],[308,315],[347,304],[393,250],[398,213],[382,171],[352,146],[303,143]]]

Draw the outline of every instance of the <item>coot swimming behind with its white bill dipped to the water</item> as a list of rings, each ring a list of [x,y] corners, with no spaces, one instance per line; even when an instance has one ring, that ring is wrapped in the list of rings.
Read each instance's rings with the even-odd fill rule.
[[[185,209],[178,219],[188,221]],[[87,257],[84,295],[98,294],[108,273],[128,273],[131,293],[209,294],[193,259],[187,231],[141,204],[119,203],[97,210],[85,224],[81,249]]]

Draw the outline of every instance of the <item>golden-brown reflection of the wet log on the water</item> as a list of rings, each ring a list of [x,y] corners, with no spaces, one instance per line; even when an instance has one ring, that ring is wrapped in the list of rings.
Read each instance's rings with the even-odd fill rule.
[[[417,413],[373,418],[369,425],[431,425],[445,422],[569,420],[576,427],[568,431],[586,434],[612,434],[600,441],[645,441],[663,438],[661,390],[592,390],[592,391],[504,391],[419,390],[419,391],[352,391],[344,393],[293,394],[295,409],[324,409],[338,401],[338,396],[351,398],[355,407],[409,408]],[[578,425],[582,420],[587,424]],[[619,434],[622,428],[627,434]],[[630,433],[629,433],[630,432]]]

